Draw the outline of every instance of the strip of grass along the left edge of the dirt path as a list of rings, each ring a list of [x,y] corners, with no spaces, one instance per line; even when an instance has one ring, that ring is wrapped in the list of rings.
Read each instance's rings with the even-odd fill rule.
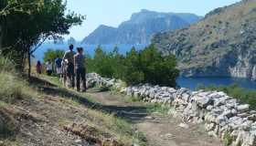
[[[84,97],[84,93],[78,93],[72,89],[61,88],[59,79],[56,77],[42,76],[41,78],[44,78],[51,84],[58,86],[59,96],[63,98],[65,97],[69,98],[66,100],[67,102],[69,102],[70,104],[73,104],[76,107],[80,106],[80,101],[76,97]],[[69,97],[70,93],[72,93],[74,97]],[[90,95],[86,95],[86,99],[88,99],[91,103],[94,103],[95,106],[97,106],[97,104],[100,104],[95,99],[93,99]],[[154,106],[149,105],[149,109],[152,109],[151,111],[153,111]],[[157,108],[155,108],[154,111],[156,111],[156,109]],[[104,112],[103,110],[91,110],[90,107],[89,109],[86,109],[86,112],[87,112],[87,115],[90,115],[92,117],[91,121],[87,121],[90,123],[90,125],[92,125],[93,127],[97,127],[102,131],[108,131],[112,133],[117,137],[118,141],[130,144],[130,145],[132,145],[133,143],[138,143],[142,146],[145,145],[144,134],[141,132],[134,133],[133,126],[129,121],[123,120],[122,118],[115,117],[113,114]],[[99,120],[100,120],[100,127],[99,125],[96,124],[96,123],[99,123]]]

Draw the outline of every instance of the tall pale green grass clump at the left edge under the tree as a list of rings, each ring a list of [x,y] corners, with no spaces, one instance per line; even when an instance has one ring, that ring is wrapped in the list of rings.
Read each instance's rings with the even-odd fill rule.
[[[20,99],[37,96],[36,92],[28,87],[27,81],[18,77],[14,67],[9,59],[0,57],[0,141],[12,137],[16,132],[16,120],[5,110],[5,107]]]

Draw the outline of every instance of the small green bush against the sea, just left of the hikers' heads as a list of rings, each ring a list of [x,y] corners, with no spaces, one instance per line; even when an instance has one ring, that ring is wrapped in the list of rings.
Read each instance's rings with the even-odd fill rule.
[[[54,62],[54,60],[57,58],[57,57],[63,57],[65,54],[65,51],[64,50],[60,50],[60,49],[57,49],[57,50],[53,50],[53,49],[48,49],[47,52],[45,52],[44,54],[44,61],[47,62],[48,60]]]

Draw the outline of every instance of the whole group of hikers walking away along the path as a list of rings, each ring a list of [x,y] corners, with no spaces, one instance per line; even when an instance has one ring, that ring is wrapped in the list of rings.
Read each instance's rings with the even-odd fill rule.
[[[55,59],[56,74],[62,79],[64,86],[76,88],[78,91],[86,91],[86,70],[83,48],[77,47],[77,53],[73,51],[74,46],[69,46],[69,51],[65,52],[64,57],[59,56]],[[48,60],[45,64],[48,76],[53,73],[53,63]],[[37,61],[37,73],[42,73],[42,65]],[[82,89],[80,88],[82,86]]]

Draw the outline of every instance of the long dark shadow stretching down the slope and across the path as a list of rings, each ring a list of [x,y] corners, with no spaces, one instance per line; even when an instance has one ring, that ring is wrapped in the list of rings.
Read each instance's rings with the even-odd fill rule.
[[[90,108],[92,110],[101,110],[105,113],[110,113],[115,115],[116,117],[123,118],[125,120],[130,120],[131,122],[135,122],[138,120],[143,120],[145,116],[147,116],[147,108],[143,106],[115,106],[115,105],[102,105],[101,103],[97,103],[91,101],[86,98],[86,95],[81,95],[76,93],[75,91],[69,91],[69,89],[59,88],[56,85],[48,83],[47,80],[38,79],[40,82],[35,84],[41,91],[43,91],[48,96],[59,96],[65,99],[72,99],[74,101],[79,102],[80,104]],[[99,93],[104,92],[105,90],[101,89],[93,89],[90,93]]]

